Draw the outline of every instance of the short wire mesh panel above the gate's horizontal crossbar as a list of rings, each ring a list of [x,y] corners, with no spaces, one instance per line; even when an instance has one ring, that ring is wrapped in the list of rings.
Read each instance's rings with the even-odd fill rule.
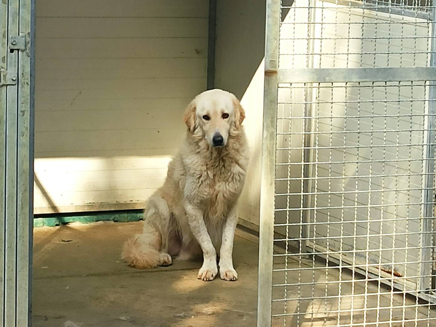
[[[279,68],[425,67],[434,53],[431,0],[289,3],[282,6]]]

